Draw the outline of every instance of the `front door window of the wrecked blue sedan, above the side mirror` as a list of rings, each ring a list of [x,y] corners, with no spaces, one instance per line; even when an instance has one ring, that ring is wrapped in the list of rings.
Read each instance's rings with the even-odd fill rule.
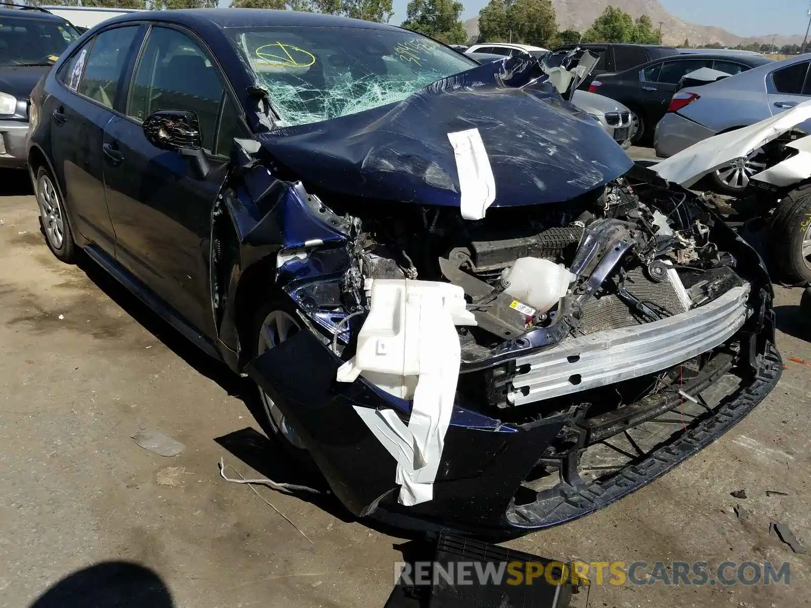
[[[203,148],[212,151],[223,98],[217,70],[189,36],[169,28],[152,28],[135,69],[127,115],[143,121],[159,109],[197,114]]]

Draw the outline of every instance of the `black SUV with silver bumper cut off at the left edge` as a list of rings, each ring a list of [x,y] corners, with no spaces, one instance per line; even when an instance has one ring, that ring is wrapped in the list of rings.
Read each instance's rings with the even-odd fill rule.
[[[45,9],[0,2],[0,169],[22,168],[28,98],[79,32]]]

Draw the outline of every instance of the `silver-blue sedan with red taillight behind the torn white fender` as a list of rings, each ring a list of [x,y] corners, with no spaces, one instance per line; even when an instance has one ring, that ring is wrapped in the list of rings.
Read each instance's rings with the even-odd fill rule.
[[[657,156],[673,156],[693,143],[753,125],[808,101],[809,66],[811,54],[805,54],[676,92],[656,126]],[[811,133],[811,124],[803,123],[799,130]],[[763,169],[762,151],[756,150],[710,174],[711,186],[724,194],[738,195],[749,186],[749,178]]]

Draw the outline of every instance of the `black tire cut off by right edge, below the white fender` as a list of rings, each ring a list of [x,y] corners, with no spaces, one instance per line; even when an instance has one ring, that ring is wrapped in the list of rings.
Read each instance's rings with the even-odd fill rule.
[[[778,276],[790,285],[811,282],[811,184],[780,201],[769,238]]]

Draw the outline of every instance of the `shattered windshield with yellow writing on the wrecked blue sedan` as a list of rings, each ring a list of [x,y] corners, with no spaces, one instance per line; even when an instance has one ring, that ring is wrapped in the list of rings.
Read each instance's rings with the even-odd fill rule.
[[[279,126],[303,125],[405,99],[478,64],[413,32],[365,28],[226,30]]]

